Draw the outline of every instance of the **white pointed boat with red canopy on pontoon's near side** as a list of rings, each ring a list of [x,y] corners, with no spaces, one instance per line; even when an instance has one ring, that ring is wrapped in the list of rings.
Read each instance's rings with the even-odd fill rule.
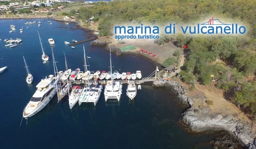
[[[82,88],[81,86],[74,86],[72,88],[71,94],[68,99],[70,109],[72,109],[74,107],[74,105],[78,102],[79,97],[82,93],[81,88]]]

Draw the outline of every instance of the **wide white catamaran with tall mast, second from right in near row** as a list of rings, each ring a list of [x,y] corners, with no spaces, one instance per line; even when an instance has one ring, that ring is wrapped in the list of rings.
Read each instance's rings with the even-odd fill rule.
[[[111,64],[111,49],[110,49],[110,72],[112,74],[112,64]],[[104,95],[105,101],[107,102],[108,99],[117,99],[118,102],[121,99],[122,94],[122,85],[120,81],[114,81],[113,77],[111,77],[111,81],[107,82],[105,87]]]

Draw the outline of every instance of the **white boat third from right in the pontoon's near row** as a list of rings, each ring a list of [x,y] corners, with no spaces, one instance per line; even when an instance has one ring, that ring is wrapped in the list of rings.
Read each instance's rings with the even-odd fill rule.
[[[102,85],[98,84],[97,82],[94,82],[91,87],[90,95],[87,98],[86,102],[92,102],[94,103],[94,106],[96,106],[97,102],[99,101],[100,95],[102,91]]]

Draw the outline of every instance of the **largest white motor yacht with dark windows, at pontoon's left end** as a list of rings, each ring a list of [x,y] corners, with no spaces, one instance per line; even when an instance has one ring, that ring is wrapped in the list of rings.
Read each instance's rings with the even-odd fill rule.
[[[57,84],[53,75],[49,75],[49,78],[42,79],[36,88],[36,92],[23,111],[23,117],[25,118],[35,115],[47,106],[60,88],[60,84]]]

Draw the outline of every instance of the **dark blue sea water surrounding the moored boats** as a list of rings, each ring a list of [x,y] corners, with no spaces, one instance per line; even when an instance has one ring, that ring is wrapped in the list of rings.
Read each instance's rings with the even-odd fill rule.
[[[41,21],[37,24],[25,25],[27,21]],[[89,42],[75,45],[75,49],[64,44],[72,39],[87,39],[88,32],[76,29],[57,28],[76,27],[75,24],[52,21],[50,25],[43,19],[0,20],[0,67],[8,66],[0,74],[0,148],[212,148],[205,143],[216,134],[192,134],[178,123],[184,108],[177,105],[175,97],[164,88],[142,86],[138,90],[134,102],[126,97],[127,85],[123,85],[122,98],[119,104],[106,105],[101,96],[96,107],[76,104],[69,109],[68,99],[57,103],[55,96],[48,106],[36,115],[22,119],[22,112],[36,90],[40,80],[54,74],[52,52],[58,62],[59,70],[64,70],[65,59],[72,69],[83,68],[83,44],[87,56],[90,56],[91,71],[109,68],[109,52],[103,47],[91,47]],[[9,33],[10,25],[16,31]],[[23,33],[18,29],[24,27]],[[29,28],[26,28],[29,27]],[[45,53],[49,61],[43,64],[42,51],[37,30],[40,33]],[[85,36],[83,36],[85,35]],[[17,47],[5,47],[5,38],[21,38]],[[55,45],[50,46],[48,39],[53,38]],[[93,49],[89,52],[89,49]],[[23,56],[34,77],[32,84],[25,81],[26,70]],[[152,62],[129,55],[112,54],[114,69],[119,72],[142,71],[147,77],[155,70]],[[120,70],[119,70],[120,69]],[[21,121],[22,120],[22,121]]]

